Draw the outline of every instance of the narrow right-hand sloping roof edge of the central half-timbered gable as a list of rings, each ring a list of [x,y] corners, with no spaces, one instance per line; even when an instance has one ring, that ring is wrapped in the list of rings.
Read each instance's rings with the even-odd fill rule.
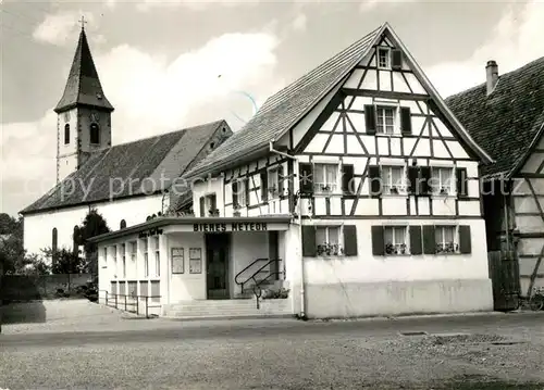
[[[457,131],[461,136],[461,138],[465,139],[465,141],[471,147],[471,149],[482,159],[483,162],[487,164],[492,164],[495,161],[483,150],[469,135],[465,126],[457,119],[457,117],[454,115],[452,110],[445,104],[444,100],[440,96],[438,91],[434,88],[432,85],[431,80],[425,76],[423,73],[423,70],[419,64],[417,63],[416,59],[410,54],[406,46],[403,43],[400,38],[396,35],[396,33],[393,30],[393,28],[386,23],[385,26],[387,27],[388,33],[392,35],[393,39],[396,41],[396,43],[403,49],[405,52],[406,56],[408,58],[408,61],[411,62],[411,65],[413,67],[413,72],[416,76],[419,76],[421,79],[423,79],[424,84],[426,87],[429,87],[431,91],[431,97],[434,98],[436,103],[438,104],[438,108],[444,112],[448,121],[452,122],[452,124],[456,127]]]

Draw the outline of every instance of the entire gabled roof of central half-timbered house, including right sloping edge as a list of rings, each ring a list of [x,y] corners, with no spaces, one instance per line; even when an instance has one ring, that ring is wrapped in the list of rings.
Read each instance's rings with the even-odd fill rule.
[[[474,151],[484,162],[492,159],[471,139],[462,125],[457,122],[442,98],[425,77],[419,65],[400,42],[391,26],[385,23],[372,30],[348,48],[329,59],[313,71],[300,77],[270,97],[257,114],[237,133],[227,139],[220,148],[201,160],[186,175],[194,177],[202,174],[215,173],[242,159],[249,159],[264,153],[271,141],[279,140],[295,126],[311,109],[313,109],[331,90],[346,79],[355,66],[378,43],[384,33],[388,33],[393,40],[404,50],[413,72],[430,89],[438,108],[456,126],[457,133],[465,143]]]

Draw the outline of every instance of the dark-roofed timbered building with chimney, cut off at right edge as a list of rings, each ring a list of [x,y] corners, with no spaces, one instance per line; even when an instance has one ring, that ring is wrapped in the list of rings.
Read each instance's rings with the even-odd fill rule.
[[[544,287],[544,58],[504,75],[495,61],[485,70],[485,83],[446,102],[495,160],[481,167],[487,248],[507,254],[490,260],[496,306],[514,309],[505,292]]]

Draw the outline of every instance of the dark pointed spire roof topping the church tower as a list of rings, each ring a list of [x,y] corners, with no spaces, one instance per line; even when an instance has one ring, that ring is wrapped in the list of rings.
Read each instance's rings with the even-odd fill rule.
[[[60,113],[76,105],[90,105],[113,111],[113,106],[103,93],[84,29],[79,34],[79,41],[77,42],[64,93],[54,112]]]

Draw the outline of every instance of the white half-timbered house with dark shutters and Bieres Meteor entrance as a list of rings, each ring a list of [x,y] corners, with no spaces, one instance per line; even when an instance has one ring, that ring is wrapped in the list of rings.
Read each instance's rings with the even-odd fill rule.
[[[187,173],[194,217],[97,240],[107,266],[127,234],[161,226],[170,266],[188,259],[185,274],[164,268],[165,312],[264,287],[308,317],[484,311],[479,165],[491,162],[385,24],[270,97]],[[190,271],[196,253],[206,276]]]

